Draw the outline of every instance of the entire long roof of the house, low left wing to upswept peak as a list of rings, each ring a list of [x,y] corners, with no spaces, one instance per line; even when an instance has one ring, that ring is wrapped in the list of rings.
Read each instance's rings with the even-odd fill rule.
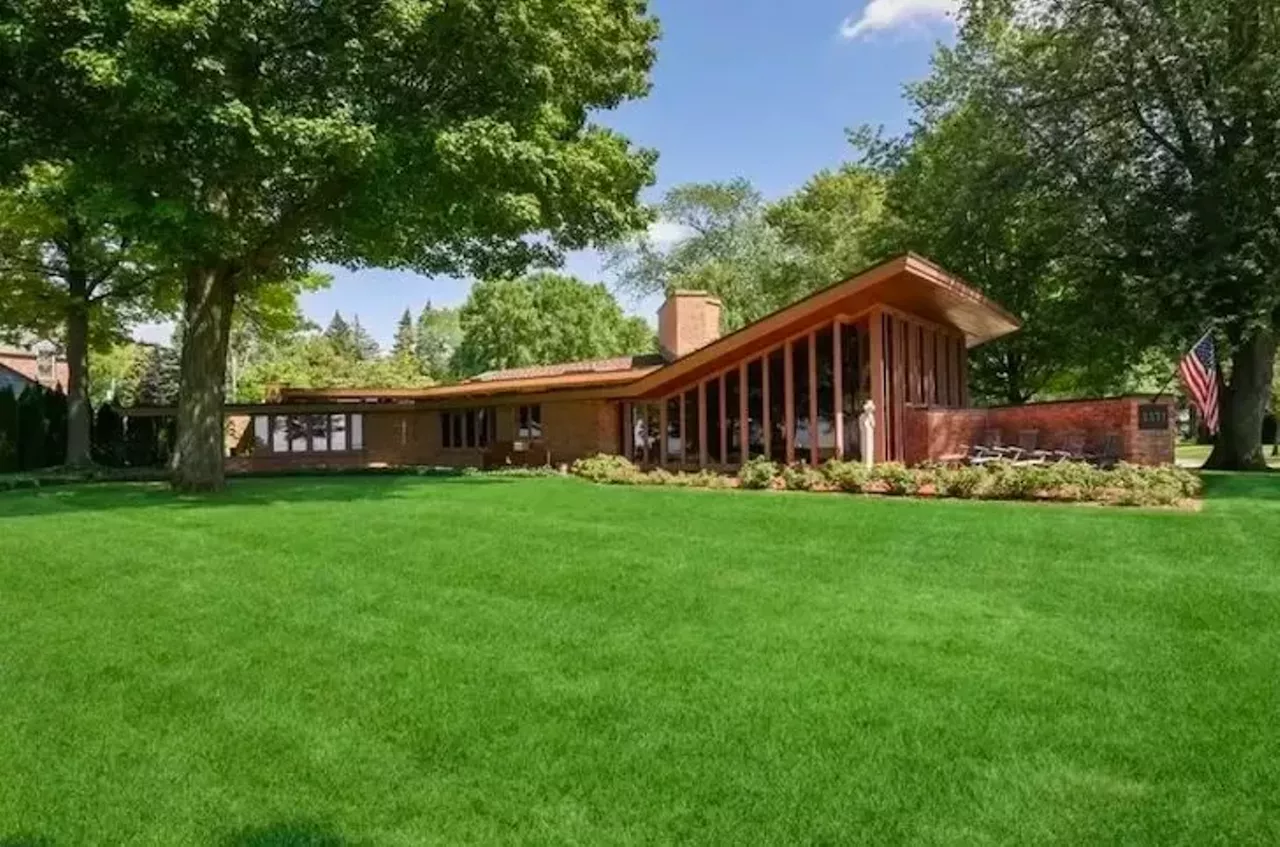
[[[672,362],[662,356],[623,356],[489,371],[456,385],[425,389],[284,389],[284,400],[456,400],[497,394],[540,394],[570,389],[609,389],[631,397],[658,397],[676,383],[690,383],[759,356],[809,328],[836,317],[855,319],[881,306],[959,329],[969,347],[1016,331],[1021,322],[960,278],[906,253],[818,290],[736,333]]]

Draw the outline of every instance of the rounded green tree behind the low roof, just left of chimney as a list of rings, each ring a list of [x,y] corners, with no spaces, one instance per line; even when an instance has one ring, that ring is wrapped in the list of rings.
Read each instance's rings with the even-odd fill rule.
[[[626,317],[604,285],[559,274],[476,283],[460,320],[456,370],[466,376],[654,349],[649,326]]]

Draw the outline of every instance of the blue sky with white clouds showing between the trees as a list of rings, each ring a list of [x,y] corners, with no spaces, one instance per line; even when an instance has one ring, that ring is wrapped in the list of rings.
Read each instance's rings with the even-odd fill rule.
[[[928,72],[940,38],[950,38],[956,0],[652,0],[662,42],[648,99],[600,120],[659,151],[658,183],[746,177],[767,197],[794,191],[849,157],[845,129],[906,119],[902,84]],[[593,252],[566,269],[611,281]],[[430,299],[454,306],[470,280],[388,270],[328,269],[333,285],[306,297],[311,320],[334,310],[389,343],[406,307]],[[654,303],[623,299],[653,320]]]

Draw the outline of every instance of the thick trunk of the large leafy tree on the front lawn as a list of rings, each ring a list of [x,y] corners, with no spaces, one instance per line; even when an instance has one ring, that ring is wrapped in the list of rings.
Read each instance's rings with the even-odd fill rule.
[[[223,265],[187,273],[178,440],[173,450],[173,487],[178,491],[216,491],[225,484],[223,400],[234,305],[236,275],[230,269]]]

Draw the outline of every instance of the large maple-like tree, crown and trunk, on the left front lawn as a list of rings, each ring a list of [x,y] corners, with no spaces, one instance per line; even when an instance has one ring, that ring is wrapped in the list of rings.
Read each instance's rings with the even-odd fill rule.
[[[0,8],[0,174],[131,198],[182,265],[174,485],[223,485],[237,299],[315,262],[522,273],[648,223],[643,0],[84,0]]]

